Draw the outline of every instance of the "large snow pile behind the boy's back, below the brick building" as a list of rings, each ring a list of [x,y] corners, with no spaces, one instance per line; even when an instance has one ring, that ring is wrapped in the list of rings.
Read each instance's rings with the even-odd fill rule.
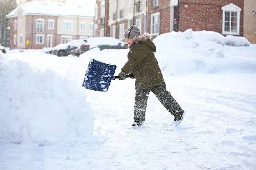
[[[165,33],[157,36],[156,58],[164,74],[256,72],[256,45],[225,45],[229,37],[211,31]],[[244,38],[236,37],[236,44]],[[241,40],[241,41],[239,41]],[[240,43],[239,43],[240,42]]]

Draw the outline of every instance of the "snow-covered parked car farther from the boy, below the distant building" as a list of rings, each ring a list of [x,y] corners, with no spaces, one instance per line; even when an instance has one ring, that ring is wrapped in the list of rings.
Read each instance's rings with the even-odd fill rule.
[[[86,41],[84,39],[78,39],[78,40],[72,40],[68,43],[65,43],[65,44],[59,44],[55,47],[53,47],[51,50],[52,50],[52,54],[54,55],[57,55],[57,56],[67,56],[67,55],[70,55],[71,54],[71,51],[73,49],[79,49],[80,50],[80,47],[82,44],[85,44]],[[79,50],[76,50],[79,52]],[[77,53],[73,52],[74,55],[78,55]],[[47,53],[47,52],[46,52]],[[48,52],[50,53],[50,51]]]

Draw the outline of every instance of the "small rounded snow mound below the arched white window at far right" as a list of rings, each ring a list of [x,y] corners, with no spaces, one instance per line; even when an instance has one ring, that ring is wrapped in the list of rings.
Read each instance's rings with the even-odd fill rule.
[[[228,35],[225,37],[225,44],[229,46],[234,47],[240,47],[240,46],[250,46],[250,42],[245,37],[236,37],[232,35]]]

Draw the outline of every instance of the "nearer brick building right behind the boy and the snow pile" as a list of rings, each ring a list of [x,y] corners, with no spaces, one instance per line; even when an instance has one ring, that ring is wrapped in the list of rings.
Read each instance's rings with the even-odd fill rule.
[[[256,7],[251,0],[96,0],[95,36],[122,39],[123,31],[137,24],[142,34],[149,32],[153,37],[192,28],[246,36],[255,43],[252,11]]]

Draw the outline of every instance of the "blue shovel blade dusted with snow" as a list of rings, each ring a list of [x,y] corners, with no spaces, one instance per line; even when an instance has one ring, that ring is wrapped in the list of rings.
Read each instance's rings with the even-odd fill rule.
[[[90,59],[82,87],[106,92],[114,76],[115,69],[116,65],[110,65],[95,59]]]

